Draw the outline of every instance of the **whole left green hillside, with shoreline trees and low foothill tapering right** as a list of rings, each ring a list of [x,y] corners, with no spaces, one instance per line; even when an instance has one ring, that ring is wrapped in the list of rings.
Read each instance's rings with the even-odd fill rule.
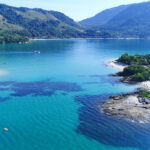
[[[0,43],[22,42],[27,38],[113,38],[117,36],[112,32],[87,30],[57,11],[0,4]]]

